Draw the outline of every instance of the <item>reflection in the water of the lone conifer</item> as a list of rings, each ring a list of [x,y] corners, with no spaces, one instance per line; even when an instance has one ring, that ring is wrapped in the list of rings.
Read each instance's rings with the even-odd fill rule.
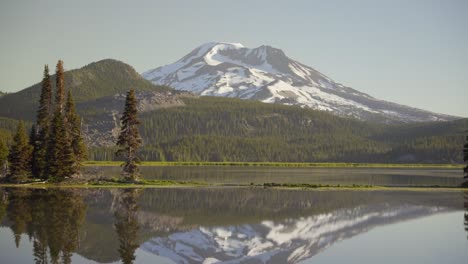
[[[115,208],[115,230],[119,237],[119,255],[124,264],[131,264],[135,260],[135,250],[139,246],[137,239],[138,205],[137,200],[141,190],[126,189],[118,190],[114,196],[118,200]]]

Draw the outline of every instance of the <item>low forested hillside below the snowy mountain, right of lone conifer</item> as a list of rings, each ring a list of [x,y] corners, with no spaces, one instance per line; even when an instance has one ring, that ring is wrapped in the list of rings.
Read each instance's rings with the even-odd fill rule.
[[[218,97],[142,113],[144,160],[460,163],[468,120],[384,126]],[[94,159],[112,150],[92,148]]]

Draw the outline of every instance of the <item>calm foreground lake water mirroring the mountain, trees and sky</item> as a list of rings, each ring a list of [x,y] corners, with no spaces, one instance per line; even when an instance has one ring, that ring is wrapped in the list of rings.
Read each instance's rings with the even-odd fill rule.
[[[456,190],[3,188],[0,223],[0,263],[468,261]]]

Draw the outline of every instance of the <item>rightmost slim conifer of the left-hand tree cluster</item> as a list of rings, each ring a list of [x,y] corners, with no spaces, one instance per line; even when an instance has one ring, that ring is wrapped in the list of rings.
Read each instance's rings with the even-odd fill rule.
[[[86,145],[83,141],[83,135],[81,134],[81,118],[76,113],[75,102],[71,91],[68,91],[67,102],[65,104],[65,114],[67,120],[67,130],[70,136],[70,146],[73,151],[73,164],[71,168],[72,174],[80,171],[81,162],[86,159]]]

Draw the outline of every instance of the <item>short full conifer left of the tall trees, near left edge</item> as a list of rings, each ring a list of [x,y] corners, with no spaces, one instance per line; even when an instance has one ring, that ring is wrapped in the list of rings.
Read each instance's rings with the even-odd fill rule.
[[[8,162],[10,172],[7,180],[15,183],[26,181],[31,176],[31,146],[28,142],[28,135],[24,128],[23,121],[18,124],[18,129],[13,138],[13,145],[10,148]]]

